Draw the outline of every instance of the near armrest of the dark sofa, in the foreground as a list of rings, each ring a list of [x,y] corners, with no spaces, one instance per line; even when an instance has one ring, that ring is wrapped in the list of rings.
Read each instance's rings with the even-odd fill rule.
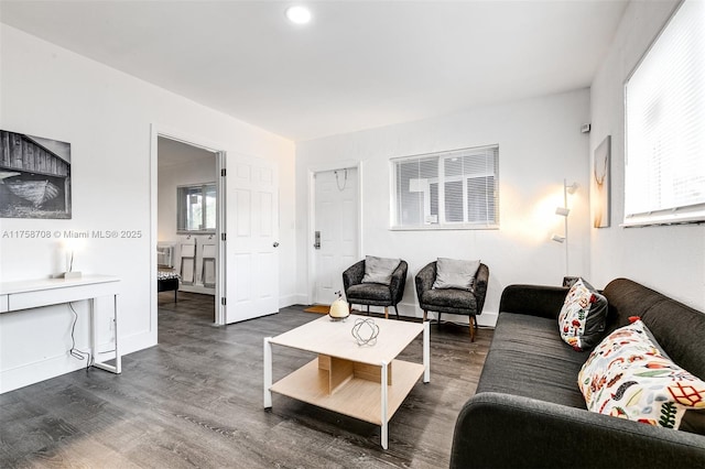
[[[705,467],[705,437],[529,397],[479,393],[460,410],[451,468]]]

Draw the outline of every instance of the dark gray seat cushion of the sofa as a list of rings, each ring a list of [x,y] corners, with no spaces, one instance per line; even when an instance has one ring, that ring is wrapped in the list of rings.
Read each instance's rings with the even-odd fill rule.
[[[561,340],[555,319],[501,313],[477,392],[500,392],[585,410],[575,382],[586,353]]]

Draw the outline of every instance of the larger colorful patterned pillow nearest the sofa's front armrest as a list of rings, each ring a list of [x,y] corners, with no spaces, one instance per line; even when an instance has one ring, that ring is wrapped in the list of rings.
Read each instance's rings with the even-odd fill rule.
[[[647,330],[637,320],[607,336],[583,364],[578,386],[592,412],[685,429],[686,411],[705,411],[705,382],[664,357]]]

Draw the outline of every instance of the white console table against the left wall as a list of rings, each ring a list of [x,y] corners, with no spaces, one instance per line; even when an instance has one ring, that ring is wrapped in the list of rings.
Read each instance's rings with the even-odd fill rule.
[[[58,305],[63,303],[90,301],[90,352],[94,357],[93,366],[112,373],[122,371],[122,360],[118,348],[118,294],[120,293],[120,279],[109,275],[84,275],[79,279],[42,279],[20,282],[0,283],[0,314],[22,312],[42,306]],[[94,318],[96,298],[112,296],[115,321],[115,366],[105,363],[96,352],[96,321]]]

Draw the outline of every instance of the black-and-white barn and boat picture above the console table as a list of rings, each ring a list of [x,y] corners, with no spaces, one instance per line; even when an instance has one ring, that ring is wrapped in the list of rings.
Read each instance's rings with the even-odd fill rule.
[[[0,130],[0,218],[70,218],[70,143]]]

